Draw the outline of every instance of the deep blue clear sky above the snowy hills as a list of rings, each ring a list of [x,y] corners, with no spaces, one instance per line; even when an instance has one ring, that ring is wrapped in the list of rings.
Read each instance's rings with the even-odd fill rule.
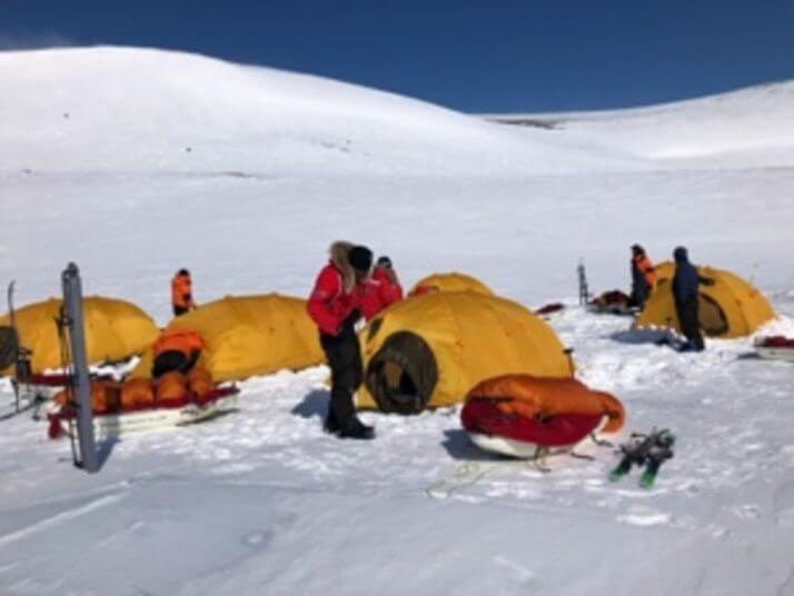
[[[794,0],[1,0],[0,48],[172,48],[464,111],[638,106],[794,79]]]

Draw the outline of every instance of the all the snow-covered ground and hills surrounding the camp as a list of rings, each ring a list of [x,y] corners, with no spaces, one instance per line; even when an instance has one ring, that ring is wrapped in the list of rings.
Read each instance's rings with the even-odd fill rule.
[[[151,50],[3,52],[0,91],[0,281],[21,302],[76,260],[88,292],[165,322],[179,267],[200,301],[306,295],[349,238],[406,284],[459,269],[570,304],[579,258],[625,287],[639,241],[752,278],[794,334],[792,83],[553,129]],[[626,319],[550,322],[627,431],[676,431],[654,490],[606,481],[594,445],[550,473],[493,459],[455,409],[333,439],[326,369],[285,371],[244,383],[238,413],[103,445],[96,476],[42,424],[0,421],[0,594],[794,594],[794,367],[751,338],[678,355]]]

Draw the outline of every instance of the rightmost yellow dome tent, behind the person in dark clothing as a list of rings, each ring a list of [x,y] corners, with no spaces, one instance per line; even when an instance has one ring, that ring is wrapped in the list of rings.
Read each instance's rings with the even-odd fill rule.
[[[681,332],[673,299],[675,265],[656,267],[658,281],[635,327],[667,327]],[[713,286],[699,286],[699,322],[708,337],[743,337],[775,318],[775,311],[763,294],[741,277],[712,267],[698,267],[701,277],[713,279]]]

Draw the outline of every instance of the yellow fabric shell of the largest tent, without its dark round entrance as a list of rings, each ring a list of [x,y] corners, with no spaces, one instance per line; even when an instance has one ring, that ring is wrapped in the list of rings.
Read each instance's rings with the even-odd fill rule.
[[[370,332],[373,326],[379,326],[377,332]],[[499,375],[573,375],[573,362],[552,328],[504,298],[437,292],[403,300],[364,328],[365,371],[388,337],[398,331],[418,335],[435,356],[438,383],[429,407],[461,403],[475,385]],[[358,393],[358,407],[377,407],[366,386]]]

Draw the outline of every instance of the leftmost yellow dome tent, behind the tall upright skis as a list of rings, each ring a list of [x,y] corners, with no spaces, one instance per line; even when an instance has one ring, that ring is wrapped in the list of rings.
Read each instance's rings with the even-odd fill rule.
[[[61,366],[61,348],[56,326],[61,302],[58,298],[50,298],[16,311],[20,345],[33,351],[33,372]],[[83,320],[89,364],[125,360],[140,354],[158,334],[157,325],[146,312],[130,302],[115,298],[85,298]],[[10,325],[8,314],[0,318],[0,325]],[[10,375],[12,368],[2,372]]]

